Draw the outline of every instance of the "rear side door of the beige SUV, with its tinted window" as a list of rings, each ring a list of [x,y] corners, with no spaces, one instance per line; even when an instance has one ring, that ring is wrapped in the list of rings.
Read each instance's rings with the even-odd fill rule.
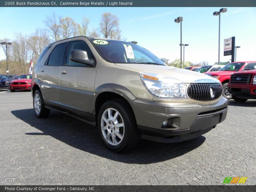
[[[68,42],[53,47],[43,66],[38,66],[37,78],[41,79],[44,102],[52,108],[60,108],[60,68],[66,54]]]

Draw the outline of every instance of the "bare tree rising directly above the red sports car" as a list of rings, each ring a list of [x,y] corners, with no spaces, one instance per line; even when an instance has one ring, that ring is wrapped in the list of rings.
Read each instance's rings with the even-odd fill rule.
[[[20,73],[24,74],[28,72],[28,59],[29,59],[29,46],[28,36],[21,33],[15,33],[15,39],[13,41],[13,56],[15,62],[18,64]]]

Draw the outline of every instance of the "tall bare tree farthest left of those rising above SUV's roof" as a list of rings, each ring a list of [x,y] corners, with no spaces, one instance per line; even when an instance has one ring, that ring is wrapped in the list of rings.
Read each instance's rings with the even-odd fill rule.
[[[57,15],[54,12],[52,13],[52,16],[47,16],[46,20],[44,20],[46,30],[52,36],[53,41],[60,40],[60,20],[61,17],[57,17]]]

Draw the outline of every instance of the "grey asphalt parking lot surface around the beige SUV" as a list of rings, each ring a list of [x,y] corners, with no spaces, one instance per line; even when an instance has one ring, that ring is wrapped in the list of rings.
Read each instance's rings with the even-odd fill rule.
[[[0,91],[0,184],[5,178],[62,179],[63,185],[256,184],[256,100],[229,102],[227,119],[193,140],[141,140],[126,154],[103,146],[95,127],[60,112],[34,115],[31,92]],[[38,183],[49,184],[49,183]]]

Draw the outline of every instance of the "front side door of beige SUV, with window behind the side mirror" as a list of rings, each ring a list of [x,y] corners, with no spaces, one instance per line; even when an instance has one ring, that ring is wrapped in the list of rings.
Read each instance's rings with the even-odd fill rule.
[[[91,121],[90,110],[97,68],[71,61],[70,54],[73,50],[86,51],[89,59],[95,59],[83,39],[74,38],[69,42],[67,57],[60,72],[61,108],[69,114]]]

